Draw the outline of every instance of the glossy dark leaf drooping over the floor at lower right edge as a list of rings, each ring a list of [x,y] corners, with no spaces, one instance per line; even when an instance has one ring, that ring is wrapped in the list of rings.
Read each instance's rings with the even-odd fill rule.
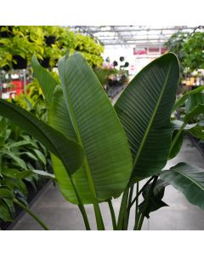
[[[184,194],[191,204],[204,210],[204,170],[197,166],[179,163],[160,174],[163,181]]]

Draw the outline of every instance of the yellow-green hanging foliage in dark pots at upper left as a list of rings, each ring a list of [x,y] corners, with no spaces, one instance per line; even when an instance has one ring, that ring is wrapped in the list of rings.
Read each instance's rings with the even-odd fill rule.
[[[48,43],[48,38],[54,41]],[[101,57],[103,46],[90,37],[69,31],[67,27],[0,27],[0,67],[3,68],[12,68],[17,62],[16,55],[27,60],[29,66],[33,54],[37,55],[42,65],[46,63],[44,67],[54,67],[59,58],[69,49],[71,53],[75,49],[82,51],[82,55],[91,67],[101,66],[103,63]]]

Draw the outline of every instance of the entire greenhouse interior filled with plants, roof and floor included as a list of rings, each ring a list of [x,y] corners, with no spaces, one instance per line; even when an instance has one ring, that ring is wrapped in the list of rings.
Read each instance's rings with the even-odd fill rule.
[[[0,26],[0,230],[204,230],[204,26]]]

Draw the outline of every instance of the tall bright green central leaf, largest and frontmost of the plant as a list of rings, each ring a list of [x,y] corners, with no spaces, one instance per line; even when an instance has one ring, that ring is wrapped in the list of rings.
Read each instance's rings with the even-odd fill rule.
[[[74,175],[82,201],[117,197],[127,186],[133,164],[116,112],[82,55],[61,58],[59,77],[71,121],[60,119],[57,129],[77,137],[86,155],[84,166]],[[55,176],[58,179],[56,172]]]

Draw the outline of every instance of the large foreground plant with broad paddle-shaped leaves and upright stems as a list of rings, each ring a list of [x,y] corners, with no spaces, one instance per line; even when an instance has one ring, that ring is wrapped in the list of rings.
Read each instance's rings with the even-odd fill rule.
[[[150,212],[166,206],[161,200],[167,183],[192,204],[204,208],[201,168],[179,163],[162,171],[170,154],[178,154],[175,145],[179,134],[204,108],[198,104],[179,124],[170,121],[179,78],[176,55],[162,55],[144,67],[114,108],[82,55],[65,55],[59,60],[61,84],[40,66],[35,56],[31,62],[48,102],[49,124],[3,100],[0,114],[48,148],[59,189],[67,201],[79,207],[87,230],[90,225],[85,204],[94,205],[98,229],[105,230],[101,202],[110,207],[114,230],[128,229],[135,205],[133,229],[140,230]],[[144,185],[139,189],[141,180]],[[111,201],[120,195],[116,221]],[[140,195],[144,201],[139,204]]]

